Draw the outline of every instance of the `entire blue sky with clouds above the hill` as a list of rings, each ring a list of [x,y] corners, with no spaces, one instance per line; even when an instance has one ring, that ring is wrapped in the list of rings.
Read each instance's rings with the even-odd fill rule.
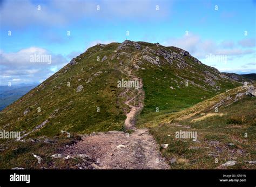
[[[221,72],[256,72],[254,0],[9,0],[0,13],[0,85],[38,84],[88,47],[126,38],[180,47]]]

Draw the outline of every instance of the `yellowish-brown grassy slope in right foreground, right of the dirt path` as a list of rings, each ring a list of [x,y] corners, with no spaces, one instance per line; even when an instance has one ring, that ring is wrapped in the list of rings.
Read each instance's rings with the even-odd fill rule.
[[[222,169],[227,161],[237,162],[230,169],[255,169],[248,161],[256,159],[256,100],[238,95],[246,89],[231,89],[180,112],[157,116],[140,127],[150,128],[159,144],[169,144],[162,152],[172,169]],[[180,130],[196,131],[197,141],[176,138]]]

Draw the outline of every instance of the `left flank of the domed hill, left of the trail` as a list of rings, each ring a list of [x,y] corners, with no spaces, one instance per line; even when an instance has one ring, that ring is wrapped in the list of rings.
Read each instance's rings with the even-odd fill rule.
[[[95,46],[78,56],[77,64],[66,65],[5,108],[0,113],[1,126],[7,126],[6,130],[31,131],[48,120],[35,136],[53,136],[60,130],[87,133],[122,129],[125,116],[120,109],[122,103],[117,100],[121,91],[115,88],[117,80],[125,75],[114,66],[97,61],[97,57],[101,60],[117,46],[111,44],[104,51]],[[79,85],[83,89],[77,92]]]

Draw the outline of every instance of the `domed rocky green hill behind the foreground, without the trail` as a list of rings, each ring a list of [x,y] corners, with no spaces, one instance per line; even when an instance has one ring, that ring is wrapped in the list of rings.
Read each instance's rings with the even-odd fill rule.
[[[145,93],[142,122],[241,85],[177,47],[129,40],[98,44],[2,110],[0,128],[22,131],[23,138],[124,130],[127,101],[139,90],[117,82],[134,77]]]

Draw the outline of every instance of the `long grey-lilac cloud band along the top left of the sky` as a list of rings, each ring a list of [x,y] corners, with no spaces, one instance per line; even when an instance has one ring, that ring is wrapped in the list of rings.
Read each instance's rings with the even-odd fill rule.
[[[38,5],[41,10],[38,10]],[[97,11],[97,5],[100,10]],[[156,11],[156,5],[159,10]],[[23,1],[3,1],[0,7],[0,22],[4,25],[23,27],[28,25],[61,26],[78,19],[99,18],[101,20],[113,18],[159,19],[170,13],[170,6],[164,1],[117,1],[102,2],[83,0],[52,0],[44,3]],[[11,13],[10,13],[11,12]]]

